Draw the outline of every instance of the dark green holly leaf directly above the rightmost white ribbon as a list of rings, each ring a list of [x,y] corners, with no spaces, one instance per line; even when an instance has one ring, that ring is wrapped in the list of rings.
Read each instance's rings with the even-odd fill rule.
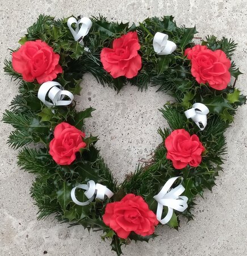
[[[208,107],[210,113],[223,114],[225,109],[234,110],[228,100],[221,96],[213,96],[213,98],[202,98],[202,103]]]

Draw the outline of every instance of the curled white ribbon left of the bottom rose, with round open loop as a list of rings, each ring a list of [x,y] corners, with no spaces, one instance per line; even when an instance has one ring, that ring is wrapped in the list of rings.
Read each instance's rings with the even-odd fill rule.
[[[87,201],[85,202],[80,202],[76,199],[76,189],[77,188],[81,188],[86,190],[86,192],[84,193],[84,195],[87,197]],[[87,182],[87,184],[80,184],[77,185],[76,187],[74,187],[72,189],[72,191],[70,192],[70,196],[72,198],[72,201],[78,205],[82,205],[85,206],[87,204],[90,204],[91,201],[95,199],[99,199],[99,200],[104,200],[104,196],[107,196],[109,199],[113,196],[114,194],[110,191],[110,189],[108,189],[106,186],[101,185],[99,183],[95,184],[95,182],[93,180],[89,180]]]

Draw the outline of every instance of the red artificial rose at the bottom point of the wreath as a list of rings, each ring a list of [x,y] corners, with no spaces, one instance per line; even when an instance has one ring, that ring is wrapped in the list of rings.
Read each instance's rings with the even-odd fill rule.
[[[133,194],[124,196],[121,201],[107,204],[103,221],[118,237],[124,239],[132,231],[140,236],[149,236],[154,233],[154,226],[158,225],[156,215],[149,210],[143,197]]]

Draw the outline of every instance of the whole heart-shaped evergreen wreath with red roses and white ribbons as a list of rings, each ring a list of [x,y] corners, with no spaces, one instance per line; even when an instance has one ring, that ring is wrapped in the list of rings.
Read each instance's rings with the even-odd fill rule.
[[[120,255],[130,240],[154,238],[159,222],[178,228],[179,213],[191,220],[195,197],[215,185],[224,131],[246,97],[235,88],[241,72],[231,60],[233,40],[207,36],[195,45],[195,27],[178,27],[172,16],[139,26],[78,19],[40,15],[11,51],[5,72],[20,81],[19,94],[3,121],[15,128],[10,146],[23,147],[20,168],[36,175],[38,218],[55,213],[101,229]],[[170,126],[158,129],[162,143],[122,184],[99,156],[98,138],[82,132],[94,109],[77,112],[73,98],[86,72],[118,91],[127,82],[141,90],[151,84],[174,97],[160,110]]]

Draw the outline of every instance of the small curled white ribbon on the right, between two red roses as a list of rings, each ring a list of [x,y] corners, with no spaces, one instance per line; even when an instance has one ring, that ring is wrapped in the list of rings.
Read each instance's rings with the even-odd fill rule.
[[[195,103],[192,105],[191,109],[185,111],[186,117],[188,119],[191,118],[201,131],[203,131],[207,125],[208,113],[210,113],[210,110],[202,103]]]

